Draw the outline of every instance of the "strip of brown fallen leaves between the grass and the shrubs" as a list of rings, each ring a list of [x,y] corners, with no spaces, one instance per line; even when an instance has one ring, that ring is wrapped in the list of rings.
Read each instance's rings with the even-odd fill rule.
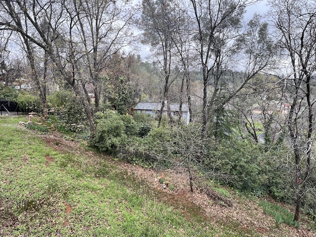
[[[41,137],[57,151],[72,150],[76,154],[84,154],[91,159],[97,160],[99,158],[99,155],[91,151],[85,151],[79,146],[79,143],[61,138],[57,132],[53,135],[41,135]],[[53,162],[48,157],[46,159],[47,162]],[[195,192],[191,193],[189,176],[184,169],[154,170],[115,161],[110,157],[107,160],[110,164],[114,164],[119,171],[135,176],[140,183],[146,183],[146,186],[150,189],[157,191],[158,193],[151,192],[152,195],[159,196],[155,198],[160,198],[160,200],[174,206],[188,219],[193,216],[194,212],[198,212],[200,216],[207,218],[215,227],[230,225],[240,230],[256,232],[262,237],[315,237],[304,225],[299,229],[285,224],[276,227],[274,218],[265,215],[256,201],[242,199],[234,191],[229,191],[232,193],[232,197],[229,198],[222,197],[212,189],[199,189],[198,187],[195,187]],[[157,174],[162,172],[164,173],[164,179],[169,182],[168,185],[173,185],[173,190],[163,189],[163,184],[157,182]],[[70,213],[70,205],[64,204],[66,213]],[[63,225],[67,226],[67,224],[65,218]]]

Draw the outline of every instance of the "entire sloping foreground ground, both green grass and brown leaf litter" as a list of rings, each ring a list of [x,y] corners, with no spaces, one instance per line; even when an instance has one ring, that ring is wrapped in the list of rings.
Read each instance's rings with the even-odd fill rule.
[[[0,236],[316,236],[276,225],[259,199],[216,183],[191,193],[184,170],[121,162],[18,120],[0,117]]]

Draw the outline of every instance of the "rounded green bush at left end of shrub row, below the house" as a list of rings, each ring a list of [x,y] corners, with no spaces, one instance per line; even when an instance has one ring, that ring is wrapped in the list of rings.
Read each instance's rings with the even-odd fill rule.
[[[119,115],[113,110],[97,112],[92,145],[102,152],[119,155],[130,163],[153,167],[158,160],[157,154],[165,149],[163,143],[170,141],[170,131],[162,127],[152,129],[153,123],[152,117],[139,114],[135,121],[134,117]]]

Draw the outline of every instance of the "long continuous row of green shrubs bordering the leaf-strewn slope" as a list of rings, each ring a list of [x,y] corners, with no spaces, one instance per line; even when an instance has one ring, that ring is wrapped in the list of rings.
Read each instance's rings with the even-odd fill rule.
[[[283,166],[275,159],[276,154],[265,152],[264,146],[234,136],[201,141],[196,124],[174,128],[166,124],[157,128],[154,124],[154,119],[145,114],[132,117],[111,110],[98,112],[92,144],[133,164],[190,166],[196,174],[252,195],[291,198],[288,167],[280,168]]]

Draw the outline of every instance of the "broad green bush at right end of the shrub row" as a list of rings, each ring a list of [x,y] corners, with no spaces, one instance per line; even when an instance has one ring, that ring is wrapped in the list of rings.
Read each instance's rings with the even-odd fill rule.
[[[237,139],[214,142],[205,166],[223,177],[223,184],[259,196],[268,192],[271,166],[259,145]]]

